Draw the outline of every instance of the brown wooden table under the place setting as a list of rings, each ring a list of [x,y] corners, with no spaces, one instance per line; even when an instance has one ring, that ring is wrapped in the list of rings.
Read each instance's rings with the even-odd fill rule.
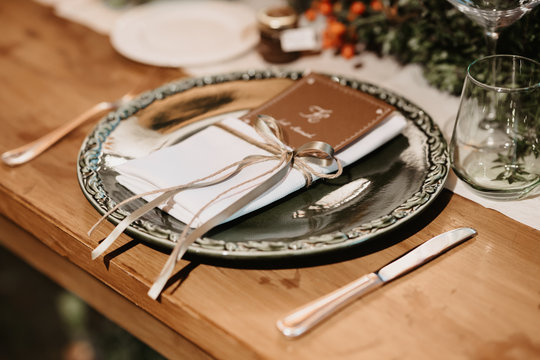
[[[32,1],[0,3],[0,152],[101,100],[185,76],[122,58],[105,36]],[[122,236],[90,251],[98,214],[76,178],[93,124],[26,165],[0,166],[0,242],[170,358],[532,359],[540,357],[540,233],[443,192],[422,216],[347,256],[299,268],[182,261],[160,301],[146,292],[167,254]],[[539,209],[540,210],[540,209]],[[307,336],[275,321],[446,230],[479,235],[353,303]],[[311,265],[311,266],[307,266]]]

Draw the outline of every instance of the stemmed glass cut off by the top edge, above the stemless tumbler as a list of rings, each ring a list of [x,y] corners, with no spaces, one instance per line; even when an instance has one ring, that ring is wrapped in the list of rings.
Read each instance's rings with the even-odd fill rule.
[[[501,28],[512,25],[540,0],[448,0],[459,11],[484,28],[488,55],[495,55]]]

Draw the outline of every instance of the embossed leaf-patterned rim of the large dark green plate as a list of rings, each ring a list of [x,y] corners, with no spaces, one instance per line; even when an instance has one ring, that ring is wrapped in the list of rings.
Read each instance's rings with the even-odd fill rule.
[[[188,77],[167,83],[159,88],[141,94],[136,99],[118,110],[105,116],[83,141],[77,161],[77,178],[83,194],[99,213],[104,214],[116,203],[103,188],[98,171],[100,169],[101,146],[116,125],[137,111],[147,107],[156,100],[164,99],[194,87],[201,87],[237,80],[258,80],[269,78],[289,78],[297,80],[305,74],[294,70],[247,70],[225,74]],[[373,221],[360,224],[347,231],[311,236],[294,242],[226,242],[207,237],[199,239],[188,249],[188,254],[202,255],[212,258],[245,260],[254,258],[284,258],[289,256],[316,255],[322,252],[347,248],[382,235],[422,212],[442,191],[449,173],[449,156],[446,141],[433,122],[432,118],[420,107],[404,97],[396,95],[380,86],[346,76],[325,74],[333,81],[353,89],[365,91],[378,96],[396,106],[404,113],[427,138],[428,172],[419,190],[390,213]],[[124,210],[117,210],[108,217],[113,224],[119,223],[125,216]],[[138,220],[131,224],[126,233],[136,239],[171,249],[178,234],[171,229],[161,228],[155,224]]]

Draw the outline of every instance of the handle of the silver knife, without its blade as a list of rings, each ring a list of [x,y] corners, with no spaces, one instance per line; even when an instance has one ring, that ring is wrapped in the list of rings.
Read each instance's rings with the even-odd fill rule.
[[[381,287],[383,281],[370,273],[294,310],[278,320],[277,327],[287,337],[297,337],[353,300]]]

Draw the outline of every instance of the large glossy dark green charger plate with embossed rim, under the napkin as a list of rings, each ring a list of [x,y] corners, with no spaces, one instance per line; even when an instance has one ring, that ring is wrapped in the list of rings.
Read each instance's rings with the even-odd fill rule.
[[[77,167],[82,191],[105,213],[133,195],[117,183],[115,165],[175,144],[225,116],[240,116],[302,75],[279,70],[235,72],[182,79],[142,94],[109,113],[83,142]],[[220,225],[191,245],[188,253],[236,260],[347,248],[404,224],[437,197],[448,175],[449,160],[446,142],[429,115],[378,86],[341,76],[331,78],[395,106],[407,119],[403,133],[347,166],[339,178],[318,181]],[[109,221],[118,223],[143,203],[136,200],[126,205],[110,215]],[[154,209],[126,232],[172,248],[184,226]]]

